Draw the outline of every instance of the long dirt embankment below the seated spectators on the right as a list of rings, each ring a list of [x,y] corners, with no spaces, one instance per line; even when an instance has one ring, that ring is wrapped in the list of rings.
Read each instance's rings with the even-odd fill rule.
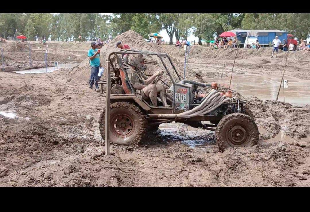
[[[164,45],[163,49],[181,61],[184,61],[185,51],[183,49],[174,45]],[[206,46],[191,46],[188,67],[193,68],[195,71],[202,71],[204,77],[221,76],[226,54],[225,66],[232,67],[236,49],[229,49],[227,51],[223,51],[223,49],[208,49]],[[258,50],[240,48],[235,61],[235,70],[240,74],[251,73],[280,76],[283,74],[287,53],[279,50],[278,57],[271,58],[271,52],[272,48],[268,47]],[[309,80],[310,68],[307,65],[309,63],[307,61],[310,61],[310,52],[290,51],[287,59],[286,75]],[[215,69],[217,71],[214,71]]]

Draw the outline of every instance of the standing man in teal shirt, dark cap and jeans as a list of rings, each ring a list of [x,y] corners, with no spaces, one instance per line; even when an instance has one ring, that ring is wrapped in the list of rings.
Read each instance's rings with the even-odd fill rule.
[[[91,65],[91,76],[89,78],[89,88],[94,89],[93,85],[95,83],[96,89],[95,91],[99,91],[98,87],[98,73],[100,67],[100,53],[98,52],[97,46],[99,45],[98,42],[92,41],[91,42],[91,49],[88,50],[88,58],[89,64]]]

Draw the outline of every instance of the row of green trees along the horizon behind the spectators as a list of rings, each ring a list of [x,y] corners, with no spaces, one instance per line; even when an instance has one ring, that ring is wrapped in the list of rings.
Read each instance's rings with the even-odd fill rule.
[[[190,33],[201,39],[213,39],[214,34],[232,29],[279,29],[305,39],[310,33],[309,13],[0,13],[0,36],[25,35],[67,41],[100,37],[107,40],[109,34],[115,37],[128,30],[134,30],[144,38],[149,33],[164,29],[169,43],[187,39]]]

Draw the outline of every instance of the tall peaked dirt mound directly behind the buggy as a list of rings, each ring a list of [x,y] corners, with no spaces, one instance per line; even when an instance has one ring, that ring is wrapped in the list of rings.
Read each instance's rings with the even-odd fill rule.
[[[143,39],[143,37],[141,37],[138,33],[129,30],[123,34],[118,35],[115,39],[113,39],[113,41],[111,41],[110,43],[108,43],[107,45],[101,48],[100,61],[101,61],[101,64],[104,65],[104,68],[106,68],[105,61],[108,60],[108,55],[113,51],[119,50],[119,48],[116,48],[116,43],[118,41],[121,41],[123,44],[128,44],[130,48],[132,49],[166,53],[166,51],[163,50],[161,46],[158,46],[154,43],[147,43]],[[149,73],[154,73],[155,71],[158,71],[158,70],[164,70],[162,63],[157,56],[144,55],[144,57],[147,60],[153,60],[155,63],[157,63],[155,65],[149,65],[149,64],[147,65],[147,69]],[[168,69],[171,70],[170,69],[171,66],[170,66],[170,63],[168,62],[168,59],[164,58],[164,61]],[[172,57],[172,62],[174,63],[177,71],[179,72],[179,75],[183,76],[184,64],[180,60],[175,59],[173,57]],[[70,74],[71,74],[72,79],[74,80],[80,80],[80,81],[87,82],[89,79],[89,75],[90,75],[90,67],[89,67],[88,58],[86,58],[78,67],[73,68]],[[201,81],[201,76],[190,68],[187,68],[186,78],[191,79],[191,80]],[[164,74],[163,79],[168,80],[168,76]]]

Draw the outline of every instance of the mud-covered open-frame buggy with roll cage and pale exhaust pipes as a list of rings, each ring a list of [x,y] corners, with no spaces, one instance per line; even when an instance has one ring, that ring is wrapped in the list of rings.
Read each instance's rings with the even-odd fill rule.
[[[167,93],[169,107],[164,107],[157,97],[158,106],[134,92],[129,82],[127,66],[121,55],[140,54],[157,56],[165,69],[171,84],[167,84],[159,75],[153,84],[161,81],[170,88]],[[168,70],[163,58],[168,59],[172,72]],[[141,50],[120,50],[112,52],[108,60],[111,64],[111,105],[110,105],[110,141],[121,145],[135,145],[148,132],[158,129],[161,123],[181,122],[192,127],[201,127],[216,133],[216,142],[223,151],[229,147],[246,147],[255,145],[259,131],[253,114],[244,104],[246,101],[233,99],[232,93],[219,92],[216,83],[200,83],[182,80],[171,58],[166,53]],[[132,68],[135,66],[129,64]],[[210,87],[210,92],[198,94],[201,87]],[[211,124],[203,124],[209,121]],[[99,129],[105,138],[105,109],[100,115]]]

